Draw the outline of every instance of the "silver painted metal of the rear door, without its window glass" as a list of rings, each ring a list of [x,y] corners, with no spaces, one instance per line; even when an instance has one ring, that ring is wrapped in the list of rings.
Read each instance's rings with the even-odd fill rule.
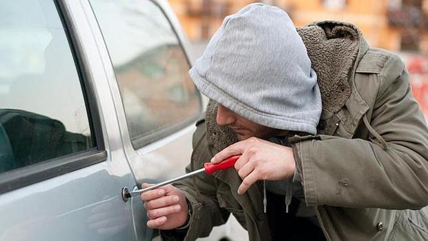
[[[86,5],[88,2],[81,1],[81,4]],[[174,16],[171,15],[171,8],[167,7],[168,5],[165,1],[159,1],[159,6],[162,7],[166,17],[168,17],[173,28],[175,28],[175,31],[180,38],[179,41],[182,44],[186,44],[177,19],[171,17]],[[89,9],[89,6],[87,7],[87,15],[92,14],[92,10]],[[184,169],[191,157],[191,136],[193,131],[195,131],[195,125],[191,124],[171,135],[168,135],[167,137],[135,150],[130,141],[130,134],[128,133],[128,126],[126,124],[126,116],[124,113],[124,106],[121,101],[119,86],[117,84],[113,67],[111,66],[111,61],[109,59],[104,39],[99,28],[95,26],[96,23],[94,21],[88,22],[93,29],[93,35],[95,35],[95,39],[97,41],[99,55],[101,56],[101,59],[104,60],[104,71],[108,78],[110,93],[115,102],[115,110],[117,112],[117,119],[121,133],[121,142],[126,154],[126,160],[128,160],[136,180],[135,186],[128,186],[128,188],[137,189],[143,182],[162,182],[184,174]],[[146,239],[151,233],[153,233],[153,231],[146,227],[147,218],[144,207],[142,206],[142,201],[139,200],[138,197],[134,197],[131,202],[133,203],[132,209],[133,220],[135,222],[135,233],[139,239]]]

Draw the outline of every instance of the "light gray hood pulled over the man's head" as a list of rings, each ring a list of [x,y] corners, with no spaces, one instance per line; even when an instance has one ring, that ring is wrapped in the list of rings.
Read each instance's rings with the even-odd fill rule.
[[[253,122],[315,134],[321,95],[289,15],[253,3],[226,17],[189,70],[197,88]]]

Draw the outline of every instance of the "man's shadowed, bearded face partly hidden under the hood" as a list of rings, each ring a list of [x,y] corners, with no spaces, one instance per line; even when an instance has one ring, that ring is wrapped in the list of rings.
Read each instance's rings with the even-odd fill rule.
[[[281,131],[275,128],[262,126],[251,120],[237,115],[232,110],[218,105],[217,108],[217,124],[220,126],[228,126],[236,133],[237,139],[242,141],[249,137],[258,137],[260,139],[268,139],[275,135],[284,135],[286,131]]]

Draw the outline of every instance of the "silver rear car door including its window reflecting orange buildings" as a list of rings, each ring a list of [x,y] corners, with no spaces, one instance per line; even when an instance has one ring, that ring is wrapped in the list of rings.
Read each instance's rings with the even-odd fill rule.
[[[166,1],[89,0],[106,46],[100,55],[121,126],[122,142],[137,189],[182,175],[191,157],[200,93],[188,76],[190,63],[177,19]],[[90,13],[88,13],[90,15]],[[93,26],[93,29],[97,29]],[[139,197],[132,203],[136,234],[149,240]]]

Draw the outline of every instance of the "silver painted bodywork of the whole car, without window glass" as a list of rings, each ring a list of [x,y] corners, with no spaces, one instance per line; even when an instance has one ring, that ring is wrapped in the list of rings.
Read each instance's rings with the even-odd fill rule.
[[[112,62],[90,2],[57,2],[86,94],[90,94],[88,104],[95,111],[92,118],[97,131],[92,134],[97,135],[98,148],[79,155],[102,154],[105,160],[1,194],[0,240],[151,240],[156,232],[146,227],[142,200],[137,196],[124,202],[121,189],[138,189],[142,182],[182,175],[191,159],[195,125],[177,128],[135,150]],[[193,61],[187,55],[188,43],[173,10],[167,1],[153,2],[171,23],[190,66]],[[36,165],[52,162],[55,160]],[[226,233],[224,226],[217,227],[210,238],[202,240],[217,240]]]

